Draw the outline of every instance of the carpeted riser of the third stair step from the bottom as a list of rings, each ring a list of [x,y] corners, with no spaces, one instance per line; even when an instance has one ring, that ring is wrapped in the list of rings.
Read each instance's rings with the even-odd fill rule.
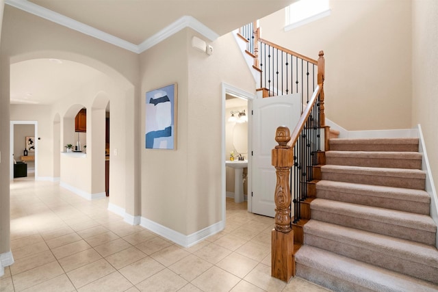
[[[311,210],[311,218],[340,226],[366,230],[381,235],[389,235],[391,237],[398,237],[428,245],[435,245],[435,233],[428,232],[426,230],[398,226],[388,222],[365,220],[364,218],[339,215],[336,213],[329,213],[315,209]]]

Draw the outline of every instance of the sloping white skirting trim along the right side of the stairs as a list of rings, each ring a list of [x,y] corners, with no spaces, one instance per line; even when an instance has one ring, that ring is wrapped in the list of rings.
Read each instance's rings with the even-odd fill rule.
[[[422,170],[426,172],[426,191],[430,196],[430,217],[432,217],[435,224],[438,225],[438,198],[437,189],[435,189],[435,184],[433,183],[432,172],[430,172],[429,159],[426,152],[426,144],[424,143],[424,137],[422,132],[422,127],[417,124],[418,138],[420,140],[418,144],[418,152],[422,153]],[[438,233],[436,233],[435,246],[438,248]]]

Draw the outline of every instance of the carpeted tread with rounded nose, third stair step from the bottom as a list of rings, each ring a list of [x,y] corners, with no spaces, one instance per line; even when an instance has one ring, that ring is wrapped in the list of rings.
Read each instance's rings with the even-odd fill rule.
[[[311,202],[310,208],[312,211],[320,210],[329,213],[336,213],[339,215],[374,221],[377,224],[381,224],[381,222],[390,222],[394,226],[416,228],[431,233],[435,233],[437,230],[435,222],[428,215],[368,207],[359,204],[336,202],[319,198],[316,198]]]

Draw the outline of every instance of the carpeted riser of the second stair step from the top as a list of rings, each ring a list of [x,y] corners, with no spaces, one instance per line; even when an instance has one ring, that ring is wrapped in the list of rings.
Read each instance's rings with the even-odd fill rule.
[[[420,170],[422,168],[422,161],[416,159],[326,157],[326,164],[363,166],[370,168],[405,168],[411,170]]]

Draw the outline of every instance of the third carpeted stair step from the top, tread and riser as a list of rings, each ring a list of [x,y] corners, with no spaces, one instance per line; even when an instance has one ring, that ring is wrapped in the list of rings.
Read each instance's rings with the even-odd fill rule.
[[[323,180],[407,187],[409,189],[424,189],[426,179],[426,173],[422,170],[350,165],[323,165],[321,174]]]

